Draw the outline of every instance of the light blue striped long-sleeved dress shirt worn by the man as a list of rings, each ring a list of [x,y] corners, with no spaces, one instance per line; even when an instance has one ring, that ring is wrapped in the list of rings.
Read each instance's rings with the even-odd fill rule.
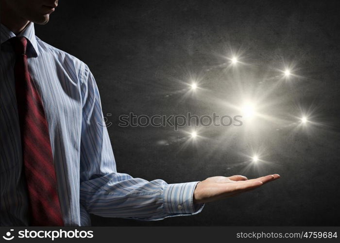
[[[51,138],[65,226],[89,226],[89,213],[103,217],[160,220],[200,212],[193,204],[198,182],[167,184],[118,173],[102,119],[98,88],[85,63],[41,41],[30,23],[29,71],[41,95]],[[20,129],[15,93],[15,55],[1,24],[0,223],[27,226],[28,200],[22,178]]]

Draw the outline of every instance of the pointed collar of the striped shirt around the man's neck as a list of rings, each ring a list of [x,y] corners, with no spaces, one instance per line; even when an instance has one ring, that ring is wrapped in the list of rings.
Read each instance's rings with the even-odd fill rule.
[[[10,31],[6,26],[3,24],[0,24],[0,41],[1,44],[4,43],[5,41],[9,40],[12,37],[15,37],[16,35]],[[28,45],[28,51],[31,51],[31,54],[34,57],[37,57],[39,55],[39,50],[38,46],[36,43],[36,38],[35,38],[35,32],[34,32],[34,23],[30,22],[25,29],[23,29],[17,36],[24,36],[29,40],[29,43],[31,45]]]

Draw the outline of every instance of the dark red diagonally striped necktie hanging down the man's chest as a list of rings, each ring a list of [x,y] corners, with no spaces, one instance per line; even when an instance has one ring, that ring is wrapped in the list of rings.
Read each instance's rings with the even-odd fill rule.
[[[17,36],[10,42],[16,53],[14,74],[30,225],[63,226],[45,110],[28,70],[27,39]]]

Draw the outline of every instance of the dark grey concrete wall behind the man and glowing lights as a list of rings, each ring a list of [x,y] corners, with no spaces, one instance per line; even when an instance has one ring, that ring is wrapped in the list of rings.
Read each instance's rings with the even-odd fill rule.
[[[281,174],[259,190],[207,204],[195,216],[156,222],[94,216],[93,225],[339,226],[338,2],[60,0],[50,22],[36,25],[36,35],[91,69],[103,113],[112,114],[108,131],[119,172],[168,183]],[[219,66],[230,47],[244,51],[246,64],[237,75]],[[284,62],[296,64],[299,77],[269,78]],[[178,81],[190,73],[203,77],[204,90],[184,97]],[[206,139],[188,146],[171,127],[118,126],[118,116],[129,112],[227,112],[216,99],[235,101],[237,79],[259,95],[275,87],[263,110],[281,120],[264,121],[257,135],[242,127],[205,128]],[[286,122],[294,121],[299,107],[311,109],[318,124],[298,129]],[[254,147],[264,147],[269,162],[249,168],[244,155]]]

